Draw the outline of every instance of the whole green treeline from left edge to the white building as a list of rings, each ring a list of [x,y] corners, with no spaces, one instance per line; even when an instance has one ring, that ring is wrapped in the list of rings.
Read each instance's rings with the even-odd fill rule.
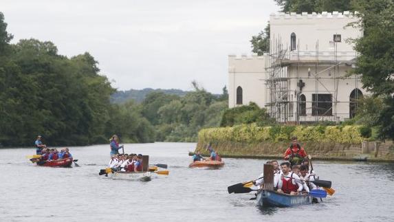
[[[152,91],[113,104],[116,89],[89,53],[67,58],[36,39],[10,44],[6,28],[0,12],[0,146],[32,146],[36,135],[50,146],[100,144],[114,133],[124,143],[195,142],[228,106],[226,87],[218,96],[196,82],[183,96]]]

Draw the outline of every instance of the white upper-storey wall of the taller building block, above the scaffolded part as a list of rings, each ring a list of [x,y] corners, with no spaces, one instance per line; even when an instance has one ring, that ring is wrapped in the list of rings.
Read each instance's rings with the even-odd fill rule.
[[[319,52],[333,52],[333,34],[341,34],[342,41],[337,43],[339,52],[354,52],[353,46],[346,43],[348,38],[362,36],[362,31],[347,25],[358,19],[351,12],[322,14],[271,14],[270,15],[270,39],[272,43],[281,42],[284,48],[290,47],[290,36],[296,34],[296,45],[303,52],[315,52],[318,42]],[[296,49],[298,50],[298,49]],[[289,50],[288,50],[289,51]]]

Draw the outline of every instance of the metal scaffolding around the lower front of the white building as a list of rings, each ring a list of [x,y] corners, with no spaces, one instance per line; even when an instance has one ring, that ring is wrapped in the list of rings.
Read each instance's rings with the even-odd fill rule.
[[[331,52],[319,52],[318,41],[314,51],[301,52],[299,39],[296,50],[283,45],[280,37],[271,39],[270,52],[265,64],[265,107],[271,117],[285,124],[320,121],[338,123],[352,118],[355,112],[352,109],[357,107],[357,100],[362,97],[358,88],[360,76],[346,76],[340,71],[353,67],[356,57],[357,52],[338,52],[336,42],[333,42]],[[301,68],[304,71],[301,71]],[[327,73],[328,75],[323,75]],[[338,100],[338,86],[343,80],[354,81],[351,85],[354,85],[355,95],[353,98],[347,97],[348,100]],[[305,82],[309,82],[310,85],[312,81],[314,89],[303,89]],[[331,96],[322,98],[323,93]],[[304,95],[304,100],[300,99],[301,95]],[[312,99],[305,99],[305,95],[311,95],[309,98]],[[342,104],[347,104],[349,111],[344,112]],[[338,107],[342,109],[338,110]]]

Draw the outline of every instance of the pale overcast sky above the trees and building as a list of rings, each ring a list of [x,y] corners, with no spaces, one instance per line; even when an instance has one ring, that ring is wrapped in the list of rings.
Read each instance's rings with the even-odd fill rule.
[[[1,0],[12,43],[52,41],[59,54],[89,52],[119,90],[228,85],[228,54],[250,54],[250,38],[277,12],[274,0]]]

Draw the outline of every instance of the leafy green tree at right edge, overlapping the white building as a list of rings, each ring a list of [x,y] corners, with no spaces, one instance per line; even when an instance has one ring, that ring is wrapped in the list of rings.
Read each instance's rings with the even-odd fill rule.
[[[362,28],[364,36],[354,40],[360,55],[352,73],[362,75],[364,88],[383,98],[384,109],[377,120],[380,137],[394,139],[394,3],[360,0],[355,8],[360,21],[353,25]]]

